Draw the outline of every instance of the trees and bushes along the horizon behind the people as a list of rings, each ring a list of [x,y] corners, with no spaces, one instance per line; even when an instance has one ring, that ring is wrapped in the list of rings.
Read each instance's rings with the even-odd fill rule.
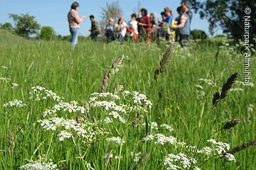
[[[241,39],[244,32],[244,17],[245,8],[250,8],[250,37],[253,38],[256,35],[256,1],[249,0],[188,0],[191,4],[191,9],[195,13],[199,13],[201,18],[207,18],[209,23],[210,34],[213,35],[216,30],[222,29],[223,33],[235,38]],[[136,13],[140,8],[140,3],[137,9],[134,9]],[[109,18],[117,18],[122,16],[122,8],[119,6],[118,1],[113,1],[111,4],[107,3],[107,6],[102,7],[102,21],[100,21],[101,30],[105,29],[105,25]],[[53,28],[49,26],[41,27],[35,20],[35,16],[30,16],[28,13],[20,15],[9,13],[9,18],[14,21],[14,27],[11,23],[1,24],[0,27],[9,30],[11,33],[21,35],[25,38],[29,38],[31,35],[44,40],[51,40],[52,38],[62,38],[61,35],[56,35]],[[201,36],[201,31],[195,30],[191,32],[192,37],[198,38]],[[205,34],[205,33],[203,33]],[[202,36],[201,36],[202,37]],[[203,35],[203,37],[207,37]],[[63,37],[68,39],[68,36]]]

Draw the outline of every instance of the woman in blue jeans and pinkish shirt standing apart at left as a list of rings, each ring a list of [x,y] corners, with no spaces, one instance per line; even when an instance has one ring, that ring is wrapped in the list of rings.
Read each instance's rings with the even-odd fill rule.
[[[75,48],[75,45],[78,44],[78,30],[80,28],[79,23],[85,18],[85,16],[78,16],[78,2],[73,2],[71,4],[70,11],[68,12],[68,25],[71,33],[71,48]]]

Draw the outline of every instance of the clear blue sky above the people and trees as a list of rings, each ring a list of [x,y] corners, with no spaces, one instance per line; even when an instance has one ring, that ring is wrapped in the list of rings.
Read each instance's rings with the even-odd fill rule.
[[[117,0],[78,0],[80,4],[78,14],[79,16],[86,16],[85,20],[80,24],[80,35],[90,34],[88,31],[88,29],[90,29],[89,16],[92,14],[97,21],[100,21],[101,7],[105,7],[107,2],[110,4],[113,1]],[[36,21],[38,21],[41,26],[50,26],[57,34],[69,35],[67,13],[72,3],[73,1],[70,0],[1,0],[0,23],[13,23],[8,13],[28,13],[31,16],[35,16]],[[123,16],[126,21],[129,21],[130,15],[134,12],[134,9],[137,8],[138,4],[139,0],[119,0],[119,6],[122,8]],[[161,19],[160,13],[166,6],[171,8],[174,12],[174,18],[176,18],[176,16],[178,16],[176,8],[180,6],[180,4],[180,0],[140,1],[141,8],[146,8],[149,13],[156,13],[156,20],[157,18]],[[208,33],[208,22],[201,20],[198,14],[194,12],[191,23],[191,30],[193,29],[205,30],[206,33]],[[221,34],[221,31],[218,31],[218,34]]]

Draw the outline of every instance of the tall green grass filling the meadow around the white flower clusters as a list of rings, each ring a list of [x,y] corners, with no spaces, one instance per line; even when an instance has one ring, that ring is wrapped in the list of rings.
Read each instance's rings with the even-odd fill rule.
[[[52,159],[58,169],[63,166],[66,169],[82,169],[86,166],[82,165],[83,161],[95,169],[166,169],[164,157],[170,153],[177,154],[176,148],[154,145],[154,142],[143,143],[146,135],[161,133],[194,146],[200,138],[207,139],[233,119],[240,119],[241,122],[235,128],[216,133],[212,138],[230,144],[231,148],[256,138],[256,91],[254,86],[240,83],[243,81],[243,55],[235,47],[191,42],[191,47],[186,50],[175,45],[171,59],[156,83],[154,73],[166,45],[80,41],[75,50],[70,50],[69,42],[65,41],[23,40],[9,36],[4,39],[0,40],[0,77],[8,79],[0,80],[0,169],[18,169],[28,160],[38,160],[43,155]],[[109,135],[86,147],[87,151],[82,150],[82,145],[76,147],[72,140],[60,142],[55,132],[43,130],[37,120],[43,119],[43,111],[52,108],[55,103],[31,101],[29,92],[32,86],[43,86],[63,96],[66,102],[78,101],[79,106],[83,106],[85,101],[89,101],[90,94],[100,92],[105,72],[121,55],[124,55],[124,60],[119,71],[112,75],[107,92],[113,93],[117,85],[122,85],[124,90],[139,91],[153,102],[152,108],[137,125],[116,122],[119,125],[117,130],[124,132],[122,149],[121,145],[107,142],[106,138],[117,137],[118,134],[111,129],[112,126],[102,122],[100,125],[110,130],[107,131]],[[250,65],[255,65],[255,56],[251,57]],[[220,91],[223,82],[233,72],[241,73],[233,89],[240,88],[242,91],[230,91],[218,103],[202,134],[208,118],[206,113],[212,109],[213,94]],[[255,72],[251,72],[252,82],[255,76]],[[164,96],[159,98],[161,89],[164,89]],[[23,101],[27,106],[4,108],[4,103],[14,99]],[[105,116],[101,108],[90,108],[91,122],[96,123]],[[75,115],[68,115],[68,118],[75,120]],[[161,128],[163,124],[170,125],[174,130]],[[81,158],[80,152],[87,154],[78,159]],[[106,163],[105,155],[110,152],[113,157],[109,156]],[[236,162],[216,158],[201,169],[255,169],[255,154],[255,146],[251,146],[235,154]],[[114,159],[114,156],[122,156],[122,159]],[[134,160],[135,157],[138,159]]]

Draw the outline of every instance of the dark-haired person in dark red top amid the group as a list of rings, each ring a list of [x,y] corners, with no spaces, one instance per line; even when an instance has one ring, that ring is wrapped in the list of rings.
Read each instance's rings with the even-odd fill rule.
[[[140,19],[138,26],[139,26],[139,36],[142,40],[146,40],[146,42],[150,42],[150,18],[147,16],[146,8],[141,8],[140,10],[142,14],[142,18]]]

